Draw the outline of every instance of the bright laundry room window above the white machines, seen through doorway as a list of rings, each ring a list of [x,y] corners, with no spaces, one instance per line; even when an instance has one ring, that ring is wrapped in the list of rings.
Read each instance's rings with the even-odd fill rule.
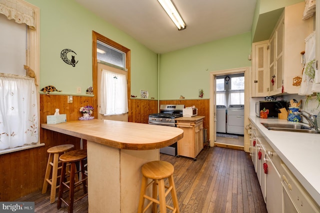
[[[244,73],[216,76],[215,84],[216,105],[244,104]]]

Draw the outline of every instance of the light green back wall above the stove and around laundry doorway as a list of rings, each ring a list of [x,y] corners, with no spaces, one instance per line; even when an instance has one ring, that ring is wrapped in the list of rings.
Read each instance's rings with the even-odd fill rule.
[[[159,98],[209,98],[209,72],[251,66],[250,32],[160,55]]]

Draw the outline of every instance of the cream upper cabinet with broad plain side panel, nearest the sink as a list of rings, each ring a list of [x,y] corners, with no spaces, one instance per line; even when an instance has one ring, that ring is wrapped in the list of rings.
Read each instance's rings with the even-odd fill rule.
[[[296,77],[302,77],[301,51],[313,31],[313,19],[302,20],[304,1],[286,6],[269,39],[268,95],[298,93]]]

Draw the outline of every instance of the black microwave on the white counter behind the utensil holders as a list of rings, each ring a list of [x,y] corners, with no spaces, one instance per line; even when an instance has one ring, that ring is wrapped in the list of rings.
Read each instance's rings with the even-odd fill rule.
[[[258,101],[255,102],[255,115],[260,116],[260,110],[269,109],[268,118],[278,118],[278,109],[286,108],[287,102],[285,100],[277,100],[277,101]]]

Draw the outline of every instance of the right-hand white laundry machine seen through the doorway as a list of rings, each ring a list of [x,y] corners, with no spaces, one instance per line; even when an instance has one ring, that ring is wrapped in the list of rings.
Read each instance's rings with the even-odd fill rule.
[[[244,105],[230,104],[227,108],[227,133],[244,134]]]

